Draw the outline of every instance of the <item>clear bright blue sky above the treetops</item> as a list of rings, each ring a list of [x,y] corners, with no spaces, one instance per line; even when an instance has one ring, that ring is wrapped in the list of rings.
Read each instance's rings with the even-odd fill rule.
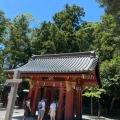
[[[0,10],[10,19],[19,13],[30,13],[35,20],[52,22],[52,16],[62,11],[66,3],[83,7],[83,20],[88,22],[100,22],[100,16],[104,14],[104,10],[99,8],[95,0],[0,0]]]

